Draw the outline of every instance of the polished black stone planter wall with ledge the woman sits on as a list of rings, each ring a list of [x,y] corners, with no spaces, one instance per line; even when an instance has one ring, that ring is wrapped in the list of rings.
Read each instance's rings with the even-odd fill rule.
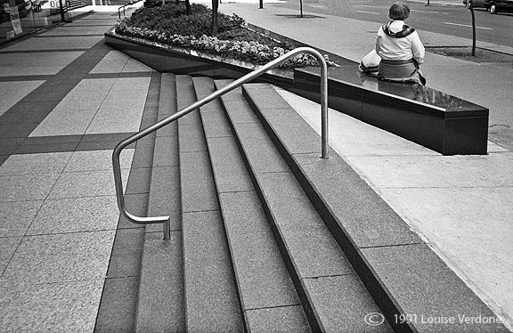
[[[276,37],[275,33],[265,33]],[[162,73],[237,79],[257,68],[245,61],[121,37],[114,29],[105,34],[105,41]],[[341,64],[329,70],[330,108],[443,155],[487,153],[488,109],[425,86],[395,84],[362,75],[357,63],[334,54],[330,59]],[[320,101],[319,68],[273,69],[256,82],[280,85]]]

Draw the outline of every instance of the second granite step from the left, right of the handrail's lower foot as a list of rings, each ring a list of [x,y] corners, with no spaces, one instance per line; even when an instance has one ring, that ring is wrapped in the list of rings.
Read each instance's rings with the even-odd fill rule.
[[[178,110],[196,101],[189,76],[176,76]],[[207,144],[198,110],[178,119],[183,218],[185,327],[190,332],[243,330]]]

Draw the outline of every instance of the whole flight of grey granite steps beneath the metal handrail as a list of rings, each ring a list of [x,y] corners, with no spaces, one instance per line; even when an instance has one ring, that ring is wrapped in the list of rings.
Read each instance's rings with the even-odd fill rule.
[[[159,119],[229,82],[162,74]],[[472,331],[400,316],[493,315],[320,142],[267,84],[157,131],[148,215],[171,215],[171,240],[146,227],[135,331]]]

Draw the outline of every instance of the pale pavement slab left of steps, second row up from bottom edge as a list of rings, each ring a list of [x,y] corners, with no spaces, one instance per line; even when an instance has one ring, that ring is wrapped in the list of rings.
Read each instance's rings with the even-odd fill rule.
[[[107,273],[116,231],[24,237],[0,282],[61,283],[102,279]]]

